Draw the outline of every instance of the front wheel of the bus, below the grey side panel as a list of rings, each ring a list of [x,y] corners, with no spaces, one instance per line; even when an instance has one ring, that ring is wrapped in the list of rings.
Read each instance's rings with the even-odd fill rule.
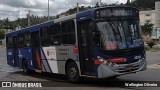
[[[80,81],[79,70],[74,62],[68,63],[66,74],[69,81],[74,83],[78,83]]]

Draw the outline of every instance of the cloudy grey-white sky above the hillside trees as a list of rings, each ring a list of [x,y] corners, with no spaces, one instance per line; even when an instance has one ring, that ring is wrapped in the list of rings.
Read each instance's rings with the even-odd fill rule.
[[[94,6],[100,0],[49,0],[50,16],[55,16],[70,8],[76,7],[76,3],[80,6]],[[127,0],[101,0],[102,3],[126,3]],[[15,20],[17,18],[26,17],[28,10],[31,15],[47,16],[48,0],[0,0],[0,20],[9,18]]]

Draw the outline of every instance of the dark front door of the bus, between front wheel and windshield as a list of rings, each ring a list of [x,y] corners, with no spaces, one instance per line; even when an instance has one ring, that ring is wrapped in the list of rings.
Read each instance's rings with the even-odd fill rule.
[[[92,35],[89,27],[89,21],[78,23],[78,48],[82,75],[94,74]]]

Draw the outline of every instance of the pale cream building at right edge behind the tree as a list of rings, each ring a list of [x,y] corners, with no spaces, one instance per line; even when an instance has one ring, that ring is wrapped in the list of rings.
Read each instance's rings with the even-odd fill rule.
[[[154,24],[151,38],[160,39],[160,1],[155,2],[155,10],[140,11],[139,15],[141,25]]]

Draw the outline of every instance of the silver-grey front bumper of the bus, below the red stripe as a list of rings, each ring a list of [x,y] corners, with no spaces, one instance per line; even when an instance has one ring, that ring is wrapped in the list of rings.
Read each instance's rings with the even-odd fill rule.
[[[132,68],[127,69],[128,66],[132,66]],[[146,69],[147,63],[145,59],[130,64],[115,64],[113,66],[107,66],[103,63],[98,67],[98,78],[120,76],[124,74],[144,71]]]

